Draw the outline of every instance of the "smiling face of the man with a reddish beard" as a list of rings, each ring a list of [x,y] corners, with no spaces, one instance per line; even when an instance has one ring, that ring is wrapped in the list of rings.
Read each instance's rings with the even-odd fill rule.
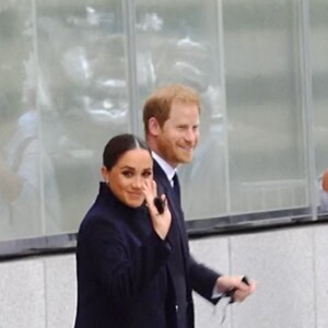
[[[160,128],[157,151],[173,167],[189,163],[199,139],[199,109],[196,104],[174,103],[169,117]]]

